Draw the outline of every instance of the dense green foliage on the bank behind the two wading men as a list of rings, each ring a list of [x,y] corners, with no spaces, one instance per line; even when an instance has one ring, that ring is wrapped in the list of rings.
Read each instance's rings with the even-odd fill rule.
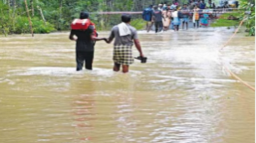
[[[120,15],[98,15],[96,12],[141,11],[150,4],[160,2],[163,0],[27,0],[27,5],[34,33],[50,33],[55,30],[68,30],[70,22],[79,17],[81,11],[89,11],[97,28],[103,30],[117,24]],[[134,17],[141,18],[141,15]],[[27,19],[24,0],[0,0],[0,34],[29,32]],[[141,27],[136,21],[133,24]]]

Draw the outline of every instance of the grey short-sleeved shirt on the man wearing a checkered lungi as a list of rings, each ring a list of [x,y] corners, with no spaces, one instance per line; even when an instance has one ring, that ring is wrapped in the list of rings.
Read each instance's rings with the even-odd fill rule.
[[[131,31],[131,35],[127,35],[127,36],[120,36],[118,25],[116,25],[112,28],[109,39],[113,40],[115,38],[114,45],[130,45],[130,46],[132,46],[133,40],[138,39],[136,29],[129,24],[127,24],[127,25]]]

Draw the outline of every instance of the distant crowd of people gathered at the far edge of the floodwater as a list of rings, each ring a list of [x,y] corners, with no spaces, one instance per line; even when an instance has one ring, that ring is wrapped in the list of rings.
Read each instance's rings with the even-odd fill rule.
[[[210,8],[215,7],[214,3],[209,0]],[[189,21],[192,20],[194,28],[200,25],[208,26],[209,14],[211,10],[207,7],[204,0],[190,0],[188,4],[182,7],[177,0],[174,0],[172,5],[159,4],[158,6],[150,5],[143,10],[142,17],[146,21],[146,31],[149,32],[155,24],[155,33],[163,32],[171,29],[179,31],[179,26],[182,24],[182,29],[188,29]],[[170,26],[171,25],[171,26]]]

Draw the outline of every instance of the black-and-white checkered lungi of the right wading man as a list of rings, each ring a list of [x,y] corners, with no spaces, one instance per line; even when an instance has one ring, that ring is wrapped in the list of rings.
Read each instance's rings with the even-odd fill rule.
[[[120,65],[131,65],[134,62],[131,45],[115,45],[113,60]]]

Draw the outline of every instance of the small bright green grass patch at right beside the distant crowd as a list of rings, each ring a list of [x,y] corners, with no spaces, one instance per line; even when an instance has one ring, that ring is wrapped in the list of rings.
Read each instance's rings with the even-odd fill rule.
[[[211,27],[232,27],[239,25],[239,20],[228,20],[227,18],[229,16],[239,17],[239,13],[225,13],[220,16],[218,20],[216,20],[214,23],[212,23]]]

